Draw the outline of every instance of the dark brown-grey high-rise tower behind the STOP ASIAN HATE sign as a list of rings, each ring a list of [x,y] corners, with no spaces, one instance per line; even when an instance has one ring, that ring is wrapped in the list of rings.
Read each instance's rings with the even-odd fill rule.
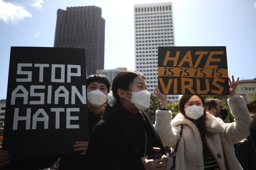
[[[84,48],[87,74],[104,69],[105,19],[96,6],[58,9],[54,47]]]

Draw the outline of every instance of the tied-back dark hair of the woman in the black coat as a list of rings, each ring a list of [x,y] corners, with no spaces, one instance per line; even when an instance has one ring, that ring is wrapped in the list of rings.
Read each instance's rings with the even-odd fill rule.
[[[116,75],[112,82],[112,93],[116,98],[116,102],[120,103],[119,95],[117,94],[118,89],[129,90],[130,85],[133,83],[133,80],[137,77],[141,76],[144,80],[146,79],[143,74],[135,70],[125,70]],[[105,107],[105,111],[102,119],[104,119],[106,113],[111,107],[107,104]]]

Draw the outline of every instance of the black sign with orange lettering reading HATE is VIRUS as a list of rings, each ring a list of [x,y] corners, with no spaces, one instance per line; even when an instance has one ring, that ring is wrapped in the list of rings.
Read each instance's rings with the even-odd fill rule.
[[[163,94],[229,95],[225,46],[158,47]]]

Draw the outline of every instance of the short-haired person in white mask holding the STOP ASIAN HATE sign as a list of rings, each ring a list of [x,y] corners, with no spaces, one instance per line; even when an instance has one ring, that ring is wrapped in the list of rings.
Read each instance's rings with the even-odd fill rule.
[[[92,74],[86,78],[87,81],[87,106],[89,136],[93,127],[100,121],[104,111],[103,105],[106,102],[110,88],[108,77],[102,74]],[[82,162],[86,153],[88,141],[76,141],[73,145],[75,151],[80,153],[68,155],[55,155],[41,158],[29,158],[7,161],[9,154],[0,146],[0,165],[5,169],[27,169],[37,170],[52,167],[60,158],[59,170],[82,169]]]

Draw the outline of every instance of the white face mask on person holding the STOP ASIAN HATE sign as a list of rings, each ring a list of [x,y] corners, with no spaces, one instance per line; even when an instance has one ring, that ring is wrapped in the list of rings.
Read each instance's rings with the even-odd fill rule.
[[[87,92],[87,100],[94,107],[100,107],[106,102],[107,95],[105,95],[101,90],[93,90]]]

